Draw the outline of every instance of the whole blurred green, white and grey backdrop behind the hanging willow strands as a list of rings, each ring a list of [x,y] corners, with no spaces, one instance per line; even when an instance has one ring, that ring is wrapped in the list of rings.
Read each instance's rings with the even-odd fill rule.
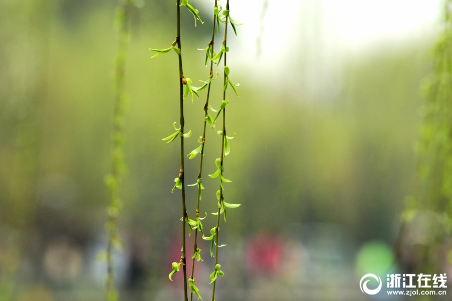
[[[171,193],[179,148],[161,140],[179,118],[178,66],[173,52],[151,59],[148,51],[174,40],[173,2],[131,9],[125,248],[115,253],[122,300],[181,299],[182,273],[167,277],[180,256],[180,191]],[[210,38],[212,3],[190,4],[205,21],[195,28],[181,11],[184,73],[196,82],[208,75],[197,49]],[[105,264],[95,257],[106,247],[117,5],[0,0],[1,301],[103,299]],[[242,206],[221,224],[216,299],[388,299],[364,295],[359,280],[404,271],[414,242],[428,243],[418,230],[425,239],[414,231],[401,246],[399,234],[416,190],[419,87],[432,69],[440,9],[439,0],[231,0],[245,25],[228,41],[241,85],[240,97],[228,96],[228,133],[237,137],[225,188]],[[211,95],[218,107],[219,81]],[[205,92],[185,100],[187,154],[202,133],[204,101]],[[219,136],[207,134],[204,175],[220,151]],[[187,184],[198,164],[186,160]],[[201,212],[214,212],[217,180],[204,178]],[[196,188],[187,188],[187,206],[194,215]],[[214,223],[210,214],[203,221]],[[200,244],[196,284],[208,299],[213,259]],[[452,272],[447,262],[440,269]]]

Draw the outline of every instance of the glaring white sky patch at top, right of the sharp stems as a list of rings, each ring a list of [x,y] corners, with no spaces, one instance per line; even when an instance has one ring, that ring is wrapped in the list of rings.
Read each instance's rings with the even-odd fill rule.
[[[265,0],[231,1],[241,44],[256,50]],[[297,43],[322,40],[342,51],[362,52],[379,42],[403,41],[431,33],[441,0],[267,0],[263,58],[275,58]],[[225,6],[225,0],[218,2]],[[249,58],[248,58],[249,59]],[[277,60],[276,60],[277,61]],[[275,62],[278,63],[278,62]]]

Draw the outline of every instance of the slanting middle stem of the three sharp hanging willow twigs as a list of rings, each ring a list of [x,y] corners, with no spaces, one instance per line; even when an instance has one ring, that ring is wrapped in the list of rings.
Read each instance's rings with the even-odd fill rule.
[[[217,0],[215,0],[215,8],[217,7]],[[208,47],[209,50],[213,50],[213,41],[215,38],[215,21],[216,21],[216,15],[213,15],[213,26],[212,26],[212,37],[210,38],[210,41],[208,43]],[[210,58],[213,58],[213,51],[210,51]],[[213,77],[213,61],[210,60],[210,72],[209,72],[209,77],[212,78]],[[207,86],[207,98],[205,100],[205,104],[204,104],[204,116],[207,116],[207,110],[209,107],[209,95],[210,95],[210,84],[211,81],[209,81],[209,84]],[[205,147],[205,128],[206,128],[206,119],[204,119],[204,128],[202,130],[202,149],[201,149],[201,159],[200,159],[200,163],[199,163],[199,173],[198,173],[198,179],[201,179],[201,175],[202,175],[202,160],[204,158],[204,147]],[[201,200],[201,185],[198,185],[198,199],[197,199],[197,204],[196,204],[196,218],[199,217],[199,201]],[[195,237],[194,237],[194,244],[193,244],[193,255],[196,253],[196,248],[197,246],[197,237],[198,237],[198,231],[195,231]],[[195,260],[196,257],[193,256],[193,262],[191,265],[191,275],[190,278],[194,279],[194,265],[195,265]],[[193,300],[193,292],[190,292],[190,301]]]

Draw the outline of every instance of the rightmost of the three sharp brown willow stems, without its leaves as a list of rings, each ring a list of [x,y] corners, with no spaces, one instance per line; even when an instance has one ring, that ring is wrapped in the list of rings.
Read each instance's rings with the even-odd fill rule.
[[[229,11],[229,0],[226,3],[226,10]],[[228,15],[226,16],[225,20],[224,20],[224,38],[223,38],[223,45],[224,48],[226,49],[226,41],[227,41],[227,37],[228,37]],[[226,64],[226,56],[227,56],[227,52],[224,52],[224,66],[227,66]],[[226,84],[226,72],[223,72],[223,86]],[[223,100],[226,99],[226,91],[223,91]],[[226,108],[223,108],[223,128],[222,128],[222,136],[221,136],[221,157],[220,157],[220,179],[219,181],[222,182],[221,177],[223,175],[223,160],[224,160],[224,139],[226,137]],[[220,185],[220,198],[219,198],[220,203],[223,201],[223,189],[222,189],[222,185]],[[218,208],[218,215],[216,217],[216,227],[215,227],[215,266],[218,264],[218,233],[219,233],[219,220],[220,220],[220,210],[221,210],[221,206],[218,206],[220,208]],[[212,298],[211,301],[214,301],[214,297],[215,297],[215,285],[216,285],[216,280],[213,282],[213,288],[212,288]]]

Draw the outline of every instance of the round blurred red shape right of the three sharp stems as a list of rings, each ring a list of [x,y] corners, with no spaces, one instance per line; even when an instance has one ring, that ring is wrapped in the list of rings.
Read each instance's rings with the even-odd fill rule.
[[[281,239],[271,233],[256,234],[246,249],[247,269],[253,275],[276,275],[281,266],[283,247]]]

